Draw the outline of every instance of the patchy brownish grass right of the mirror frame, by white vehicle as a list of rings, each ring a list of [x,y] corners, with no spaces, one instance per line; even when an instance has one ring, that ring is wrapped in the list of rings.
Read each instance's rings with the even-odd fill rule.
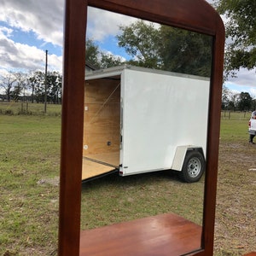
[[[233,113],[232,119],[221,120],[215,255],[256,250],[256,172],[250,171],[256,168],[256,147],[248,143],[249,118]]]

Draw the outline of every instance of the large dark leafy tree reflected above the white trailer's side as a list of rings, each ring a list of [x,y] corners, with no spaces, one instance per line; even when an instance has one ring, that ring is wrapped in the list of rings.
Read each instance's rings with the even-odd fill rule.
[[[128,63],[210,77],[211,37],[143,20],[119,28],[119,47],[132,57]]]

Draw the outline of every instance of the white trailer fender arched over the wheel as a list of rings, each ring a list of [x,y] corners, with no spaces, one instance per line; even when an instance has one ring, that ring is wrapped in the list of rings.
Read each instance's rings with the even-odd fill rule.
[[[203,149],[201,147],[193,146],[193,145],[183,145],[183,146],[177,146],[174,159],[172,161],[172,167],[171,169],[174,171],[182,171],[183,169],[183,162],[185,160],[186,154],[190,150],[199,151],[202,155]]]

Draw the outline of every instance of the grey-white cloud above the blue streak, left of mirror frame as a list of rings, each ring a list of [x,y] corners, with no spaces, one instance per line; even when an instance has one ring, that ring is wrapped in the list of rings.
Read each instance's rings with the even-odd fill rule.
[[[2,0],[0,17],[9,26],[23,32],[35,32],[38,38],[62,44],[64,0]]]

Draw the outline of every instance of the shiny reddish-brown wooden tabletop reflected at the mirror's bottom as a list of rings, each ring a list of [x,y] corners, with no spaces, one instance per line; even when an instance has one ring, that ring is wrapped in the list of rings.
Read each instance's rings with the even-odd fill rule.
[[[170,256],[201,247],[201,226],[166,213],[81,231],[80,256]]]

